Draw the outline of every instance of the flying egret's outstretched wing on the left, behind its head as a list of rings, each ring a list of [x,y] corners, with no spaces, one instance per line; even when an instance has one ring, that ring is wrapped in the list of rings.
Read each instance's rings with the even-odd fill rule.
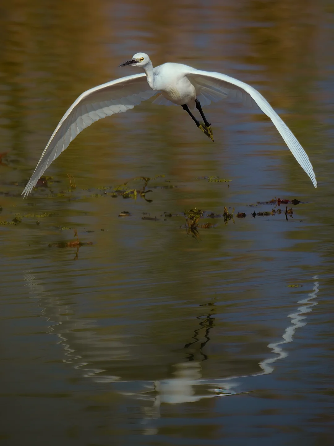
[[[82,93],[61,118],[22,195],[30,194],[52,161],[84,128],[106,116],[129,110],[156,93],[148,87],[145,73],[116,79]]]

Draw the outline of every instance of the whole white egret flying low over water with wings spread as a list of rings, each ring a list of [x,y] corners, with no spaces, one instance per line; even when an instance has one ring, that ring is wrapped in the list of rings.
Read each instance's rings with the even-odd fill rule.
[[[77,98],[53,132],[32,177],[24,188],[22,193],[24,196],[29,195],[45,169],[84,128],[101,118],[133,108],[157,92],[160,95],[154,103],[181,105],[197,127],[212,141],[211,124],[205,118],[200,103],[208,105],[211,101],[216,102],[230,95],[239,97],[244,102],[254,101],[273,121],[293,156],[311,178],[314,187],[317,186],[312,165],[304,149],[265,98],[253,87],[226,74],[196,70],[179,63],[165,63],[153,68],[150,58],[144,53],[134,54],[131,60],[120,66],[126,65],[143,68],[145,73],[107,82],[85,91]],[[204,124],[191,113],[189,107],[195,106]]]

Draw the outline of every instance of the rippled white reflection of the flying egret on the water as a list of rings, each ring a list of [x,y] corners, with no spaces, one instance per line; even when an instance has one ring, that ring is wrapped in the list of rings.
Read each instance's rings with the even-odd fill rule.
[[[123,395],[134,397],[140,400],[151,401],[151,408],[143,408],[145,414],[143,414],[143,419],[155,419],[159,417],[159,406],[162,403],[169,404],[179,404],[188,403],[193,401],[199,401],[203,398],[212,398],[216,396],[228,396],[234,394],[242,393],[238,388],[240,383],[236,382],[236,379],[241,379],[245,377],[261,376],[272,373],[274,370],[273,363],[286,358],[289,353],[283,350],[282,346],[287,343],[293,342],[293,335],[295,334],[297,328],[306,325],[306,314],[312,311],[312,307],[317,305],[318,302],[314,301],[318,293],[318,277],[314,276],[314,287],[313,292],[308,295],[305,299],[297,302],[301,304],[297,307],[297,311],[289,314],[289,324],[285,328],[282,340],[276,343],[268,344],[268,348],[271,350],[272,355],[263,359],[259,366],[261,370],[258,373],[250,375],[239,375],[230,376],[221,379],[202,379],[201,376],[201,363],[198,361],[187,361],[183,363],[177,363],[174,365],[175,371],[173,372],[174,377],[166,380],[156,380],[156,381],[129,381],[122,380],[119,376],[103,375],[103,370],[94,369],[87,367],[90,362],[82,362],[80,360],[84,359],[82,355],[76,354],[76,350],[69,344],[68,338],[64,336],[64,333],[69,333],[73,336],[73,329],[85,329],[93,328],[92,321],[87,322],[85,319],[73,319],[71,315],[66,316],[66,306],[60,306],[59,302],[54,302],[49,297],[48,293],[45,293],[42,285],[38,285],[36,278],[32,271],[24,272],[24,281],[26,281],[25,286],[30,288],[30,294],[32,298],[40,299],[41,317],[46,318],[48,322],[52,322],[51,319],[46,315],[46,308],[42,306],[42,302],[45,306],[57,308],[57,312],[61,315],[62,320],[72,321],[70,328],[63,331],[62,333],[57,333],[57,326],[64,324],[64,322],[53,322],[53,325],[49,326],[49,334],[57,335],[59,337],[58,344],[61,344],[65,348],[65,356],[63,359],[65,363],[71,363],[73,366],[81,371],[85,371],[86,377],[93,379],[99,383],[110,383],[113,385],[115,390]],[[57,305],[58,304],[58,305]],[[56,315],[53,314],[53,317]],[[71,332],[71,333],[70,333]],[[98,345],[103,339],[102,336],[94,333],[94,330],[86,331],[85,334],[81,332],[81,337],[86,338],[86,342],[90,345]],[[110,339],[109,339],[110,340]],[[80,341],[82,343],[82,339]],[[122,345],[121,345],[122,344]],[[115,345],[113,344],[113,347]],[[126,354],[126,344],[117,341],[117,347],[122,348],[122,355]],[[108,360],[108,358],[104,358]],[[109,358],[111,359],[111,358]],[[113,358],[115,359],[115,358]],[[132,391],[129,392],[128,389],[131,388]],[[149,429],[150,430],[150,429]],[[149,432],[154,434],[154,432]]]

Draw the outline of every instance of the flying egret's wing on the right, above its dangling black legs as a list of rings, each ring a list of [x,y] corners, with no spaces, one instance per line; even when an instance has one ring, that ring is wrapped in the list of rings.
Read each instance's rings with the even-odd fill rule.
[[[232,91],[236,92],[235,96],[240,96],[243,102],[247,102],[247,98],[253,99],[261,110],[273,121],[273,124],[285,140],[293,156],[311,178],[314,187],[317,187],[313,167],[305,150],[301,147],[289,127],[281,120],[276,111],[273,110],[269,102],[255,88],[221,73],[192,69],[185,73],[185,75],[195,86],[196,95],[199,100],[203,96],[209,103],[210,100],[216,102],[217,100],[230,96]]]

